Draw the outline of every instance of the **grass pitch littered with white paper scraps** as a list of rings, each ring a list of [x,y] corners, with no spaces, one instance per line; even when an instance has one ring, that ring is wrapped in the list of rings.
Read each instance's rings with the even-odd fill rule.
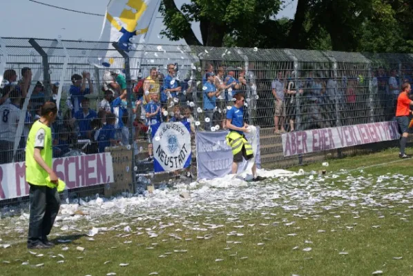
[[[27,218],[1,219],[0,244],[11,246],[0,248],[0,275],[413,275],[412,160],[397,153],[291,168],[322,177],[81,207],[87,216],[62,216],[54,229],[70,243],[35,254]],[[107,229],[84,235],[92,227]]]

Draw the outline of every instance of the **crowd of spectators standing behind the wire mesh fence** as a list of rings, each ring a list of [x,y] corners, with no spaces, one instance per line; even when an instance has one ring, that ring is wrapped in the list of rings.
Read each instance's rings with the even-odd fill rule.
[[[379,120],[389,120],[394,116],[394,102],[401,84],[411,81],[407,73],[397,76],[396,70],[391,70],[387,77],[383,68],[373,72],[372,77],[363,77],[363,72],[356,71],[347,76],[343,71],[336,77],[322,70],[302,70],[302,76],[296,76],[294,70],[278,70],[273,73],[274,79],[269,79],[269,72],[262,76],[253,64],[248,71],[207,64],[199,76],[201,81],[194,77],[180,80],[176,63],[169,64],[166,69],[167,74],[163,75],[157,68],[151,68],[148,76],[132,81],[131,95],[128,95],[126,77],[120,70],[108,68],[104,71],[99,83],[102,91],[96,89],[97,83],[89,72],[73,74],[66,108],[59,108],[58,119],[52,126],[54,157],[63,157],[73,145],[84,145],[81,150],[89,154],[104,152],[108,146],[128,145],[131,141],[136,144],[146,139],[146,161],[152,161],[151,125],[187,120],[192,132],[195,128],[225,129],[227,109],[240,92],[246,96],[244,119],[259,124],[260,116],[273,117],[276,134],[359,124],[361,121],[357,118],[378,116],[379,112],[375,111],[378,109],[385,110],[380,112],[385,118]],[[46,101],[59,101],[59,83],[50,83],[50,92],[47,92],[41,81],[32,85],[30,68],[22,68],[20,74],[19,81],[15,70],[9,69],[3,74],[0,164],[23,160],[21,153],[28,130],[39,117],[39,108]],[[88,95],[97,94],[100,97],[95,105],[95,98]],[[273,106],[269,106],[272,102]],[[22,120],[21,137],[16,139]],[[18,143],[17,154],[15,143]]]

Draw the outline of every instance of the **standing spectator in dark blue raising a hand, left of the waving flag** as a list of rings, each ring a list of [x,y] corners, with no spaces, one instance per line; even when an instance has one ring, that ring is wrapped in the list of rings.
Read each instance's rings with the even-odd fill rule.
[[[74,112],[80,110],[81,100],[86,94],[93,94],[93,83],[90,80],[90,73],[82,72],[82,75],[75,74],[72,76],[72,85],[70,86],[70,100],[72,101]],[[86,80],[88,81],[88,88],[86,88]]]

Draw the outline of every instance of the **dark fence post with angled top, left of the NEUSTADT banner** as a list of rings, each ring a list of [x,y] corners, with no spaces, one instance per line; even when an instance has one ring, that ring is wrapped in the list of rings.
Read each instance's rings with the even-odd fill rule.
[[[136,175],[135,175],[135,147],[134,147],[134,142],[133,141],[133,115],[132,115],[132,81],[131,81],[131,63],[130,63],[130,58],[129,55],[122,49],[120,49],[117,46],[117,43],[112,43],[113,48],[119,52],[119,54],[124,58],[125,61],[125,77],[126,77],[126,91],[128,92],[128,128],[129,128],[129,145],[131,146],[130,150],[132,150],[132,164],[130,166],[131,168],[131,174],[132,174],[132,186],[133,186],[133,193],[136,193]],[[120,120],[121,118],[119,118]]]

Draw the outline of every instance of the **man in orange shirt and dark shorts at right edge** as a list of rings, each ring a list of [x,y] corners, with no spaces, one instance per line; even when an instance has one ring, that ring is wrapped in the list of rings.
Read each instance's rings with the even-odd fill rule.
[[[410,110],[410,106],[413,106],[413,101],[409,99],[412,88],[410,88],[410,83],[403,83],[402,89],[402,92],[398,95],[397,98],[396,109],[397,124],[401,130],[401,133],[403,133],[400,139],[400,154],[398,155],[398,157],[410,158],[410,155],[405,154],[405,148],[407,143],[407,136],[410,132],[410,115],[413,114],[412,110]]]

